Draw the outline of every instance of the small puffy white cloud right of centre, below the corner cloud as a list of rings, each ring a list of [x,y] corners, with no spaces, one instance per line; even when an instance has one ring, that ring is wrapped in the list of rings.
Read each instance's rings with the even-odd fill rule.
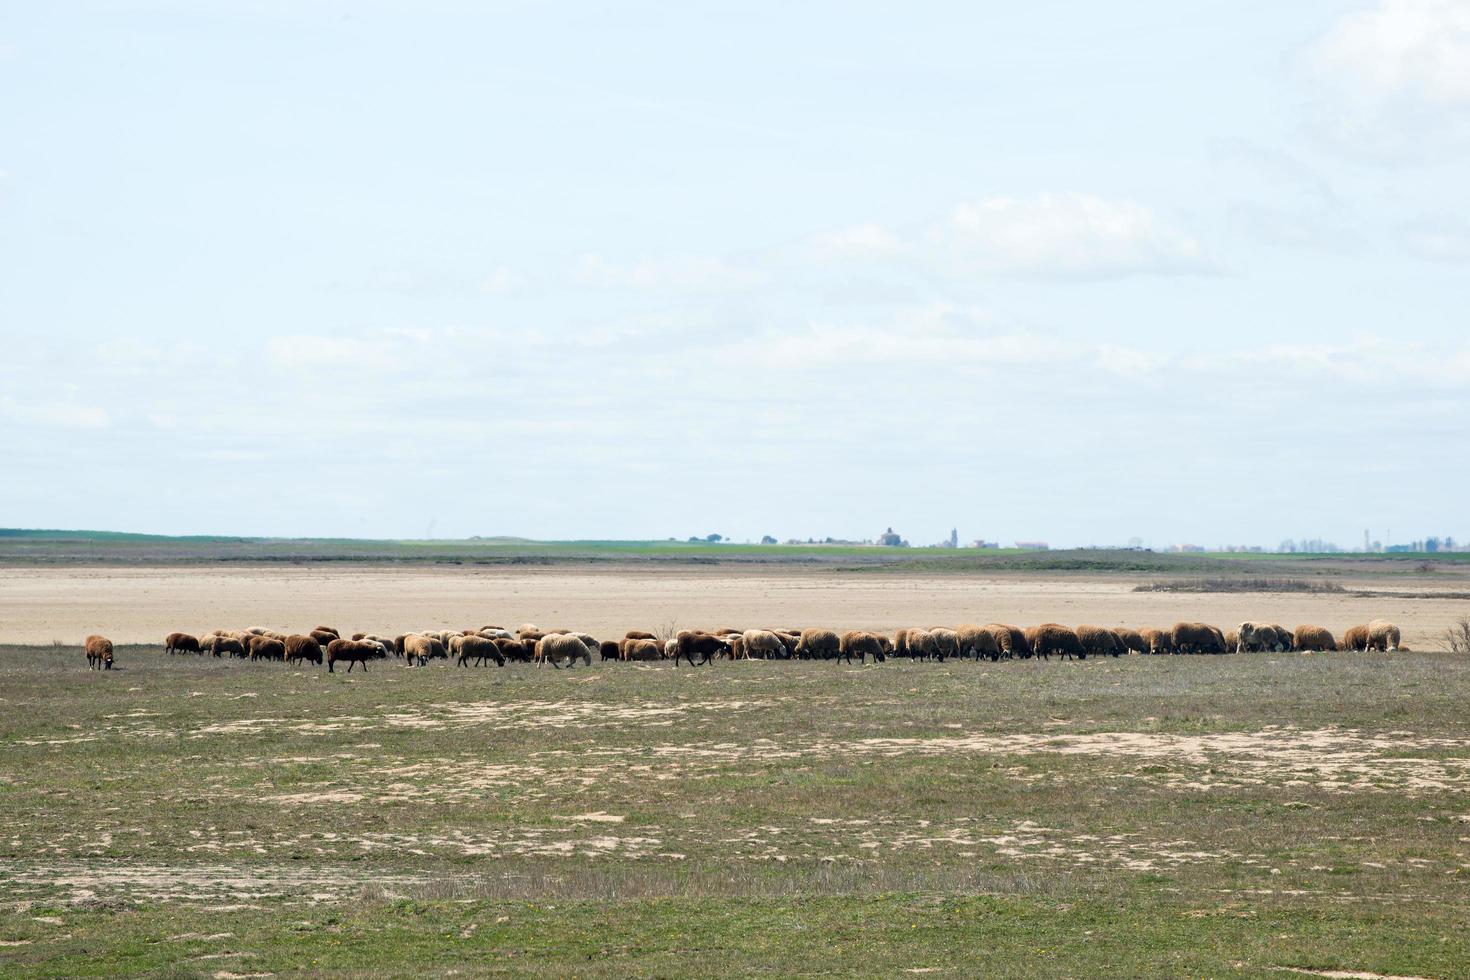
[[[929,239],[958,272],[1111,278],[1210,269],[1200,242],[1148,207],[1091,194],[960,204]]]

